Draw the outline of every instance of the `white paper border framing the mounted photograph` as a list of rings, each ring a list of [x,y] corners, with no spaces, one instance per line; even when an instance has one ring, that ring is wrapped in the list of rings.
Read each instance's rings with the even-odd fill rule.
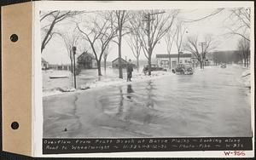
[[[254,7],[253,2],[239,1],[37,1],[33,3],[33,62],[32,62],[32,156],[34,157],[225,157],[224,151],[143,151],[143,152],[113,152],[113,153],[83,153],[83,154],[52,154],[42,153],[43,140],[43,93],[42,93],[42,72],[40,52],[40,10],[113,10],[113,9],[213,9],[213,8],[235,8],[251,7],[251,123],[254,141]],[[193,4],[193,5],[192,5]],[[194,7],[193,7],[194,8]],[[254,157],[253,151],[244,151],[245,157]],[[146,154],[145,154],[146,153]],[[229,156],[236,157],[236,156]]]

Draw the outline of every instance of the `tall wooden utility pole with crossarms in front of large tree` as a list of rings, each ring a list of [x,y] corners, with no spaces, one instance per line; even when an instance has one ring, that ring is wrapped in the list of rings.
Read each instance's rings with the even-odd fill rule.
[[[147,37],[148,37],[148,75],[151,75],[151,55],[152,55],[152,42],[151,42],[151,37],[150,37],[150,22],[154,21],[154,19],[151,19],[151,15],[155,14],[164,14],[166,12],[157,12],[157,13],[148,13],[145,14],[143,21],[147,21]]]

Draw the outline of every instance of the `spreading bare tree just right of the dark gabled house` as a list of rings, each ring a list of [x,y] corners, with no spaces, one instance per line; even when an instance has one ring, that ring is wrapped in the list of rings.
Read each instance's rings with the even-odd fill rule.
[[[113,21],[105,11],[99,11],[94,14],[90,21],[77,23],[79,31],[84,39],[90,43],[90,48],[96,57],[98,76],[102,76],[101,61],[109,43],[116,36],[116,30],[113,27]]]

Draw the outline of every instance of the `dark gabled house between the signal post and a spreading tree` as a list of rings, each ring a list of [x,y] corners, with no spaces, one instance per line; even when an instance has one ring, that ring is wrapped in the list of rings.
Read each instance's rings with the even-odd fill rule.
[[[95,56],[88,52],[84,52],[83,54],[80,54],[78,57],[77,63],[78,63],[78,66],[81,67],[81,69],[97,68],[97,62],[96,62]]]

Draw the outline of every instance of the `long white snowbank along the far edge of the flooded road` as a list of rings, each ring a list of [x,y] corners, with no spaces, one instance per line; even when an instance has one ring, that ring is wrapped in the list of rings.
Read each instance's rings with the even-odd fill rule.
[[[171,76],[171,75],[173,75],[173,73],[168,71],[152,71],[151,76],[145,75],[143,73],[135,73],[132,75],[131,82],[126,82],[125,74],[124,74],[124,79],[121,79],[119,77],[104,77],[101,80],[94,80],[93,82],[90,82],[90,83],[84,83],[78,86],[78,89],[63,87],[63,88],[57,88],[57,89],[44,90],[43,96],[65,94],[68,92],[79,92],[87,89],[123,85],[125,83],[137,83],[137,82],[148,81],[150,79],[157,79],[157,78]]]

